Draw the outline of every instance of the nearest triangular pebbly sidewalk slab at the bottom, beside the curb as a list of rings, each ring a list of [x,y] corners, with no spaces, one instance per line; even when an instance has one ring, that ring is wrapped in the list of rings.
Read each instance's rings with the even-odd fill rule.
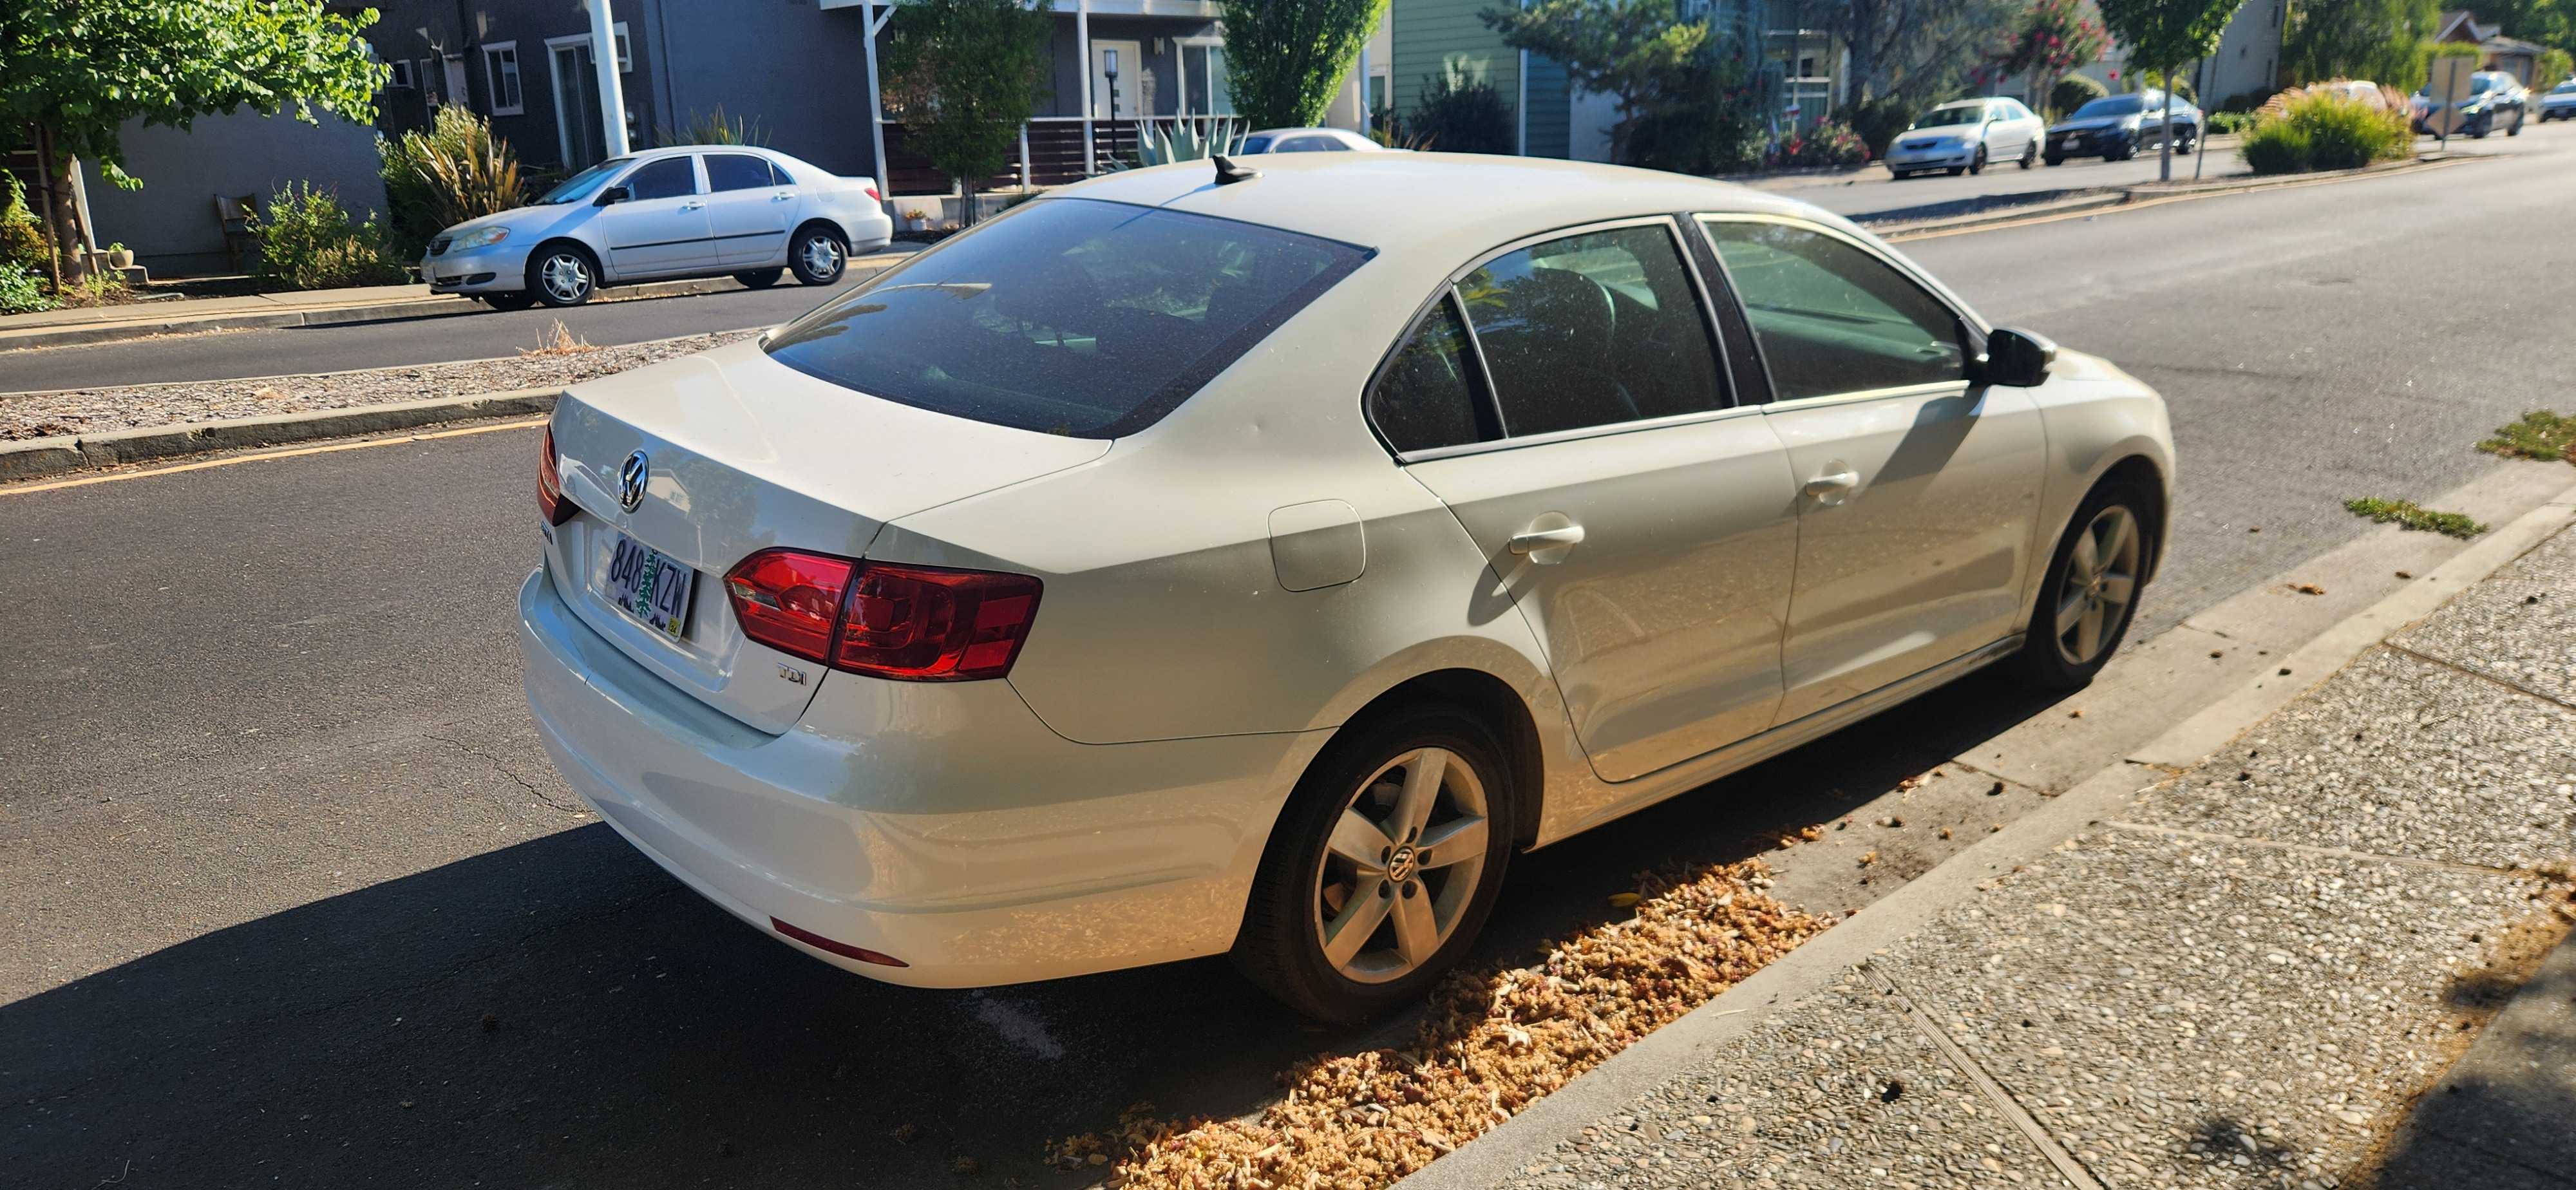
[[[1857,971],[1584,1128],[1515,1187],[2053,1185],[2022,1133]]]

